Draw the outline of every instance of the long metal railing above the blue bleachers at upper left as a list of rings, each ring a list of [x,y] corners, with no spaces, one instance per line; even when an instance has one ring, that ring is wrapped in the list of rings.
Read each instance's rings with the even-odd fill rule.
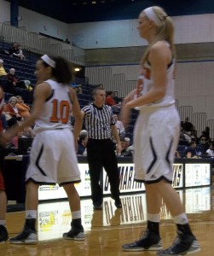
[[[0,23],[0,37],[7,43],[17,42],[23,49],[41,55],[62,55],[74,64],[85,66],[84,49],[45,37],[37,32],[27,32],[25,27],[10,26],[9,22]]]

